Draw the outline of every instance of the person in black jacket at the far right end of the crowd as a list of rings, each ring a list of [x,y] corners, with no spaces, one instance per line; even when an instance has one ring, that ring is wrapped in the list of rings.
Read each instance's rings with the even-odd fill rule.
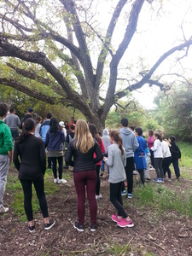
[[[176,178],[178,179],[180,177],[180,170],[178,167],[178,160],[181,161],[181,151],[178,148],[177,144],[175,143],[175,137],[170,136],[169,137],[169,143],[171,143],[170,151],[172,154],[172,166],[175,171]]]

